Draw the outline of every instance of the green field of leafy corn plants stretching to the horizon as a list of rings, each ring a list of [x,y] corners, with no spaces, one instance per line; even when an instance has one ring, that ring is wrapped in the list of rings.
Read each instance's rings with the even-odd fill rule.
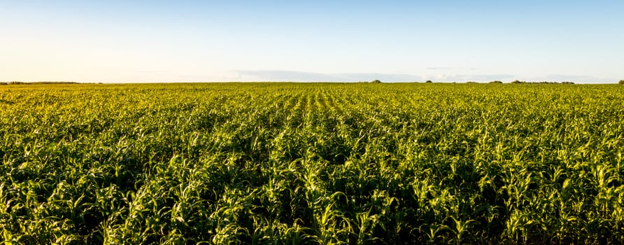
[[[624,87],[0,87],[4,244],[619,244]]]

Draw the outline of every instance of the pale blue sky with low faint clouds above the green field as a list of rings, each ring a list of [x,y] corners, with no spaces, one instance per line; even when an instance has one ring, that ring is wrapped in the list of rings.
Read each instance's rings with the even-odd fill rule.
[[[7,1],[0,81],[624,79],[624,1]]]

